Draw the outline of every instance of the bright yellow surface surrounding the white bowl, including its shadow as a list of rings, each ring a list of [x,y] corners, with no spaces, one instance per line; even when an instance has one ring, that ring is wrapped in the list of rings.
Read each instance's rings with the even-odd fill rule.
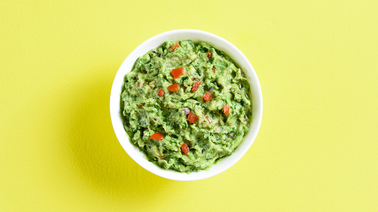
[[[377,211],[377,1],[0,2],[0,211]],[[251,149],[196,182],[137,165],[113,77],[167,30],[212,32],[260,79]]]

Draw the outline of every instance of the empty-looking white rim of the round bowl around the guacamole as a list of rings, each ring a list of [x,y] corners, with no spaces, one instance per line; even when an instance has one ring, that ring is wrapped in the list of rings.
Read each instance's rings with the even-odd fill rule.
[[[179,173],[174,170],[165,170],[157,167],[149,162],[144,153],[139,151],[138,147],[134,146],[127,136],[124,126],[122,111],[120,108],[120,93],[124,84],[124,76],[131,71],[135,61],[138,57],[145,54],[147,51],[156,48],[164,43],[164,41],[179,41],[179,40],[198,40],[214,46],[220,51],[225,52],[230,56],[236,65],[245,73],[246,78],[251,86],[252,98],[252,121],[250,122],[250,129],[244,140],[236,148],[236,151],[229,157],[223,158],[219,163],[213,165],[209,170],[194,171],[190,174]],[[113,85],[110,92],[110,118],[113,125],[115,135],[121,143],[127,154],[141,167],[148,171],[171,180],[176,181],[195,181],[217,175],[229,167],[233,166],[251,147],[257,133],[260,129],[261,119],[263,114],[263,97],[261,87],[257,75],[251,65],[241,51],[235,45],[226,41],[225,39],[201,30],[172,30],[158,34],[141,45],[136,47],[125,59],[114,77]],[[247,168],[247,167],[246,167]]]

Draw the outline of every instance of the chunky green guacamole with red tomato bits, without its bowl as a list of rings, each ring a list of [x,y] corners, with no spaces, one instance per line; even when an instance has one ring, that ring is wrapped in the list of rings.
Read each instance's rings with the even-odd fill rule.
[[[125,76],[124,127],[157,166],[208,169],[248,132],[249,93],[243,72],[223,52],[202,41],[166,41]]]

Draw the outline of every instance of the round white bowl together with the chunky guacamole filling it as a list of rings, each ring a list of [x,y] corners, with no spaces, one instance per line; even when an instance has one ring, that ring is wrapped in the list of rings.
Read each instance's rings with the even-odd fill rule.
[[[236,46],[200,30],[173,30],[134,49],[110,93],[114,132],[158,176],[192,181],[221,173],[251,147],[262,93]]]

